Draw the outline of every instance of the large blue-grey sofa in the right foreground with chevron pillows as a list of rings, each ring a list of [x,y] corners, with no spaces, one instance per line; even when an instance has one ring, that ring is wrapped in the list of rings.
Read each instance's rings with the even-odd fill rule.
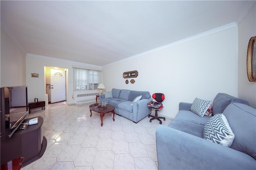
[[[242,99],[218,93],[212,102],[213,115],[223,113],[235,137],[229,147],[203,138],[210,119],[190,111],[192,103],[180,103],[178,115],[168,127],[156,129],[160,170],[249,170],[256,169],[256,109]]]

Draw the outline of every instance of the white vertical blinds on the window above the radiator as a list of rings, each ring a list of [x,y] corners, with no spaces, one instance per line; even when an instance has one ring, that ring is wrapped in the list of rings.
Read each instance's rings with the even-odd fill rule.
[[[101,83],[101,71],[74,67],[74,90],[97,89]]]

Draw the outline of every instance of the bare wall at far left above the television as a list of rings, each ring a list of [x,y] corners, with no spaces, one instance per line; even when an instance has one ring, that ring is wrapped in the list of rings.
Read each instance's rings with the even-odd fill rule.
[[[25,55],[1,26],[1,87],[26,85]]]

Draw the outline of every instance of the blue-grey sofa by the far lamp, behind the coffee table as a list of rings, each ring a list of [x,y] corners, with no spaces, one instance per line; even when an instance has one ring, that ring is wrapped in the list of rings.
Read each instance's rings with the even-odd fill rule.
[[[142,95],[142,98],[131,105],[132,101],[140,95]],[[116,114],[130,119],[134,123],[138,123],[138,121],[150,115],[151,109],[148,109],[148,102],[150,101],[152,101],[152,98],[148,91],[112,89],[111,98],[100,95],[100,102],[106,102],[114,106]]]

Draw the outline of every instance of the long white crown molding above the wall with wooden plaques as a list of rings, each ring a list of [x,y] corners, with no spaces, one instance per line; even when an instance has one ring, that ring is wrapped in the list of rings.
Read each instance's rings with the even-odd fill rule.
[[[234,28],[234,27],[237,27],[238,25],[236,24],[236,22],[232,22],[230,24],[227,24],[227,25],[224,25],[224,26],[221,26],[221,27],[218,27],[218,28],[214,28],[212,30],[209,30],[209,31],[206,31],[206,32],[202,32],[200,34],[197,34],[195,36],[191,36],[191,37],[188,37],[188,38],[185,38],[183,40],[179,40],[177,42],[173,42],[173,43],[170,43],[170,44],[167,44],[167,45],[163,45],[161,47],[157,47],[157,48],[154,48],[154,49],[151,49],[149,51],[146,51],[146,52],[143,52],[143,53],[140,53],[140,54],[137,54],[137,55],[133,55],[131,57],[128,57],[128,58],[125,58],[125,59],[122,59],[122,60],[119,60],[119,61],[116,61],[116,62],[113,62],[113,63],[110,63],[110,64],[107,64],[107,65],[103,65],[102,67],[106,67],[106,66],[109,66],[109,65],[113,65],[113,64],[116,64],[116,63],[120,63],[120,62],[123,62],[123,61],[126,61],[126,60],[129,60],[129,59],[132,59],[132,58],[135,58],[135,57],[140,57],[142,55],[146,55],[148,53],[152,53],[152,52],[155,52],[155,51],[158,51],[158,50],[161,50],[161,49],[165,49],[165,48],[169,48],[169,47],[173,47],[175,45],[178,45],[178,44],[181,44],[181,43],[185,43],[185,42],[189,42],[189,41],[192,41],[192,40],[196,40],[198,38],[202,38],[204,36],[208,36],[208,35],[211,35],[211,34],[215,34],[217,32],[221,32],[221,31],[224,31],[224,30],[228,30],[230,28]]]

